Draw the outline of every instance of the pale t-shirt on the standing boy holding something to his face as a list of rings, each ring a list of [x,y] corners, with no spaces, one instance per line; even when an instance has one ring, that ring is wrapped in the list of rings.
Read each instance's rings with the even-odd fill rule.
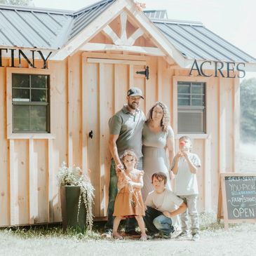
[[[197,154],[188,154],[190,161],[196,167],[201,166],[201,161]],[[173,164],[171,169],[173,170],[173,166],[175,165],[176,156],[173,159]],[[196,174],[191,173],[189,170],[189,164],[187,160],[182,156],[179,160],[178,167],[177,167],[177,174],[175,175],[175,194],[177,196],[187,196],[187,195],[194,195],[198,194],[198,186],[196,180]]]

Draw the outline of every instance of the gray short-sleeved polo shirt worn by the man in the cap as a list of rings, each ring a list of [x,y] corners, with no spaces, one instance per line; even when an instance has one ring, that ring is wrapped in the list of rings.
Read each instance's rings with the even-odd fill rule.
[[[135,115],[123,108],[109,119],[109,133],[119,135],[116,140],[119,157],[126,149],[133,149],[136,156],[142,156],[142,128],[145,121],[144,113],[140,109],[135,110]]]

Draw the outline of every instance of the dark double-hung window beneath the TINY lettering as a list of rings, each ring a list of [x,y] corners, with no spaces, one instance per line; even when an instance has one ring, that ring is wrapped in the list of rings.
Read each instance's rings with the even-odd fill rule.
[[[13,133],[49,133],[49,76],[12,74]]]

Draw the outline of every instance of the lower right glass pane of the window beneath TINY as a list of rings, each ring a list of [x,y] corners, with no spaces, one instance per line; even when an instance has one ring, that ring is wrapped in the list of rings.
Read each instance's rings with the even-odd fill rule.
[[[47,132],[47,106],[30,106],[30,129]]]

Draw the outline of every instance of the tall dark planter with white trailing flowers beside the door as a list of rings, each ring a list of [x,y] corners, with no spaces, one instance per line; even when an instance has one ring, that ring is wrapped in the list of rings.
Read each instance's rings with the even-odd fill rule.
[[[62,163],[58,172],[63,229],[73,227],[91,231],[93,227],[94,188],[79,167]]]

